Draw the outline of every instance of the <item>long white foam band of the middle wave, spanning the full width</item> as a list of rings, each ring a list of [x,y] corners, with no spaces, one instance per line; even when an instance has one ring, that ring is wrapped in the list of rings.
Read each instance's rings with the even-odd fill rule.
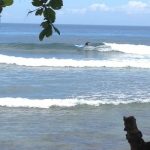
[[[140,60],[73,60],[73,59],[56,59],[56,58],[24,58],[0,55],[1,64],[15,64],[19,66],[30,66],[30,67],[110,67],[110,68],[150,68],[150,61],[147,59]]]

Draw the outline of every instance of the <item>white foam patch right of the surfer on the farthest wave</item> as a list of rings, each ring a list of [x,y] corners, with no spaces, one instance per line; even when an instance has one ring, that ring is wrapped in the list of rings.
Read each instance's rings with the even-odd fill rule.
[[[105,43],[105,45],[110,46],[111,49],[115,51],[130,54],[150,55],[150,46],[147,45],[117,44],[117,43]]]

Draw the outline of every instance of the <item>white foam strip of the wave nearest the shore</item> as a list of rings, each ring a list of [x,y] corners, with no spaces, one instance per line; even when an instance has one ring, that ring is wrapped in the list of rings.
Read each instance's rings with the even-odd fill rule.
[[[58,107],[74,107],[76,105],[120,105],[131,103],[150,103],[150,99],[135,100],[85,100],[85,99],[27,99],[27,98],[0,98],[0,106],[6,107],[29,107],[29,108],[49,108]]]

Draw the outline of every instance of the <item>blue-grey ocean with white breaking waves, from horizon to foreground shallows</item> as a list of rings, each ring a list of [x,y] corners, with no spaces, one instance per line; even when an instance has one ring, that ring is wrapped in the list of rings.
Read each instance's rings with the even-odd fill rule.
[[[56,26],[0,24],[0,148],[127,150],[131,115],[150,140],[150,27]]]

